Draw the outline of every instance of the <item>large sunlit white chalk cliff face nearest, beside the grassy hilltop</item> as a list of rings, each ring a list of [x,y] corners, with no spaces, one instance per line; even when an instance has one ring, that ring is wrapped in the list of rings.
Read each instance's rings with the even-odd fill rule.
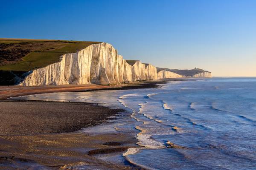
[[[154,79],[157,79],[156,67],[140,61],[130,65],[112,45],[102,42],[64,54],[59,62],[30,71],[20,85],[114,85]]]

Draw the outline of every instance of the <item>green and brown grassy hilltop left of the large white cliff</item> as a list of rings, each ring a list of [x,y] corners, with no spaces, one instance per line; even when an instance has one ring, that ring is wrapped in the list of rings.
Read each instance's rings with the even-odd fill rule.
[[[66,40],[29,40],[0,38],[0,71],[30,71],[100,42]]]

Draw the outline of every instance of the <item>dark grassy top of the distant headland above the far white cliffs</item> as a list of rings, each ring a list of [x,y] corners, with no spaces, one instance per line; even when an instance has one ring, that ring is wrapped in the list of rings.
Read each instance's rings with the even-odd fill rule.
[[[190,76],[193,76],[195,74],[204,73],[204,72],[211,73],[209,71],[205,71],[205,70],[200,69],[200,68],[194,68],[194,69],[191,69],[191,70],[179,70],[179,69],[169,69],[169,68],[159,68],[159,67],[157,67],[157,73],[161,70],[171,71],[173,73],[176,73],[176,74],[179,74],[179,75],[185,76],[185,77],[190,77]]]

